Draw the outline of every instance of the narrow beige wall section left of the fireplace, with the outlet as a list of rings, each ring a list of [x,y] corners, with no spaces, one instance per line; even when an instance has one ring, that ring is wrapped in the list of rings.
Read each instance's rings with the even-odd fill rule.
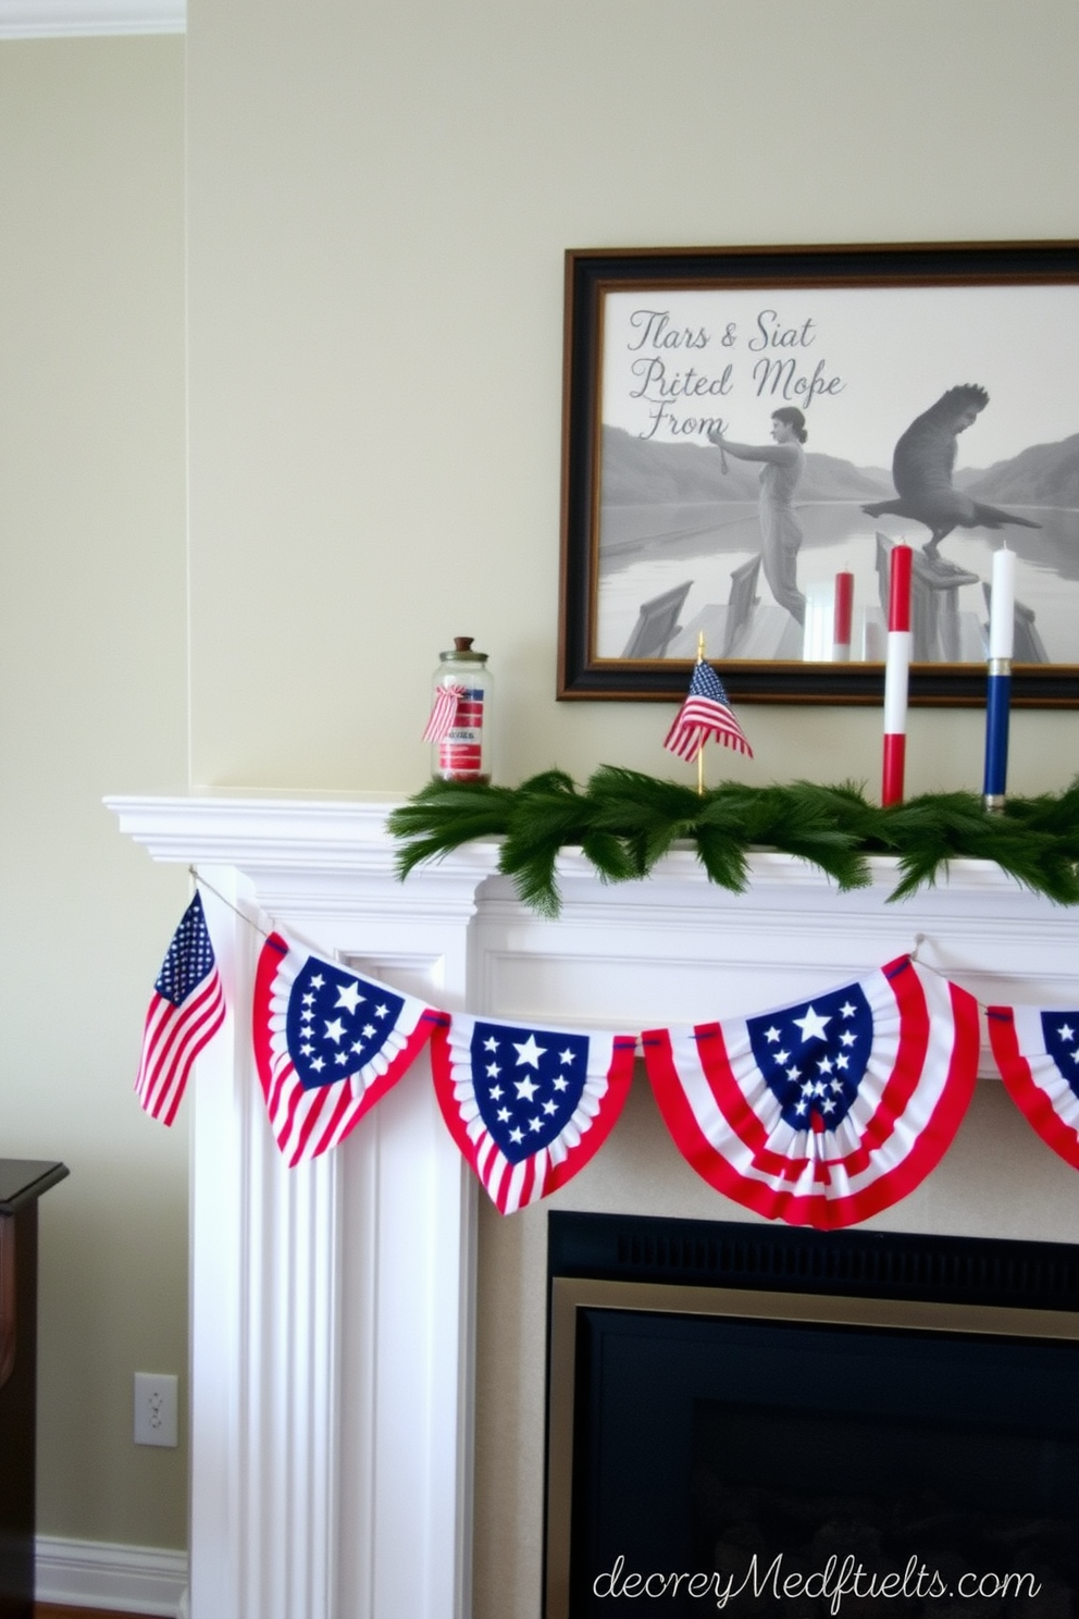
[[[186,894],[107,792],[186,782],[183,40],[0,45],[0,1153],[40,1205],[39,1528],[183,1546],[186,1140],[131,1096]]]

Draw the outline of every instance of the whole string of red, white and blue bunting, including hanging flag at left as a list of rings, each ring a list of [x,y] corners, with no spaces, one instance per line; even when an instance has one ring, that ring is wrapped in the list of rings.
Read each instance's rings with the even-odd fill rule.
[[[141,1104],[165,1124],[225,1015],[209,934],[202,926],[193,936],[189,916],[167,955],[170,1017],[183,1036],[183,1060],[167,1064],[168,1106],[155,1101],[160,1085],[146,1081],[162,1067],[152,1015],[136,1080]],[[210,1023],[207,986],[218,997]],[[150,1013],[162,992],[159,979]],[[1009,1094],[1079,1169],[1079,1010],[1000,1005],[987,1018]],[[903,955],[768,1012],[597,1035],[442,1012],[272,933],[251,1030],[270,1128],[290,1166],[343,1141],[430,1041],[446,1127],[511,1214],[566,1185],[600,1149],[641,1044],[660,1112],[699,1175],[768,1219],[836,1229],[890,1208],[940,1162],[974,1091],[979,1020],[966,989]]]

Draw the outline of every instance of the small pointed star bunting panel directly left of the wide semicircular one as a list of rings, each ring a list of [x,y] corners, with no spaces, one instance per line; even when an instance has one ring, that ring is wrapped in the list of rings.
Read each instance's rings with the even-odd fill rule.
[[[607,1140],[634,1035],[582,1035],[455,1013],[435,1030],[443,1119],[503,1214],[563,1187]]]

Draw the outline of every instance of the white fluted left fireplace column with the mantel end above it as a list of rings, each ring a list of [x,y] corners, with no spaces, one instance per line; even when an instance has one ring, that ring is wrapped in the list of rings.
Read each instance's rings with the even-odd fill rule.
[[[230,1004],[184,1101],[191,1619],[468,1619],[474,1182],[425,1056],[341,1148],[285,1167],[251,1052],[251,923],[456,1009],[495,852],[401,887],[385,806],[113,808],[217,890]]]

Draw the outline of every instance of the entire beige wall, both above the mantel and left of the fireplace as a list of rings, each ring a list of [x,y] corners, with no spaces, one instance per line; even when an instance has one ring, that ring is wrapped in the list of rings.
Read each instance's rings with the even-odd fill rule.
[[[1076,235],[1077,36],[1073,0],[191,0],[189,657],[184,45],[0,47],[0,1140],[73,1169],[45,1532],[184,1536],[183,1452],[128,1439],[131,1371],[183,1368],[184,1137],[128,1086],[186,884],[100,795],[183,785],[188,678],[196,784],[411,790],[461,631],[506,780],[665,771],[662,709],[552,696],[563,249]],[[878,719],[754,709],[721,763],[872,780]],[[977,784],[980,727],[919,711],[911,787]],[[1076,737],[1018,716],[1014,785]]]

